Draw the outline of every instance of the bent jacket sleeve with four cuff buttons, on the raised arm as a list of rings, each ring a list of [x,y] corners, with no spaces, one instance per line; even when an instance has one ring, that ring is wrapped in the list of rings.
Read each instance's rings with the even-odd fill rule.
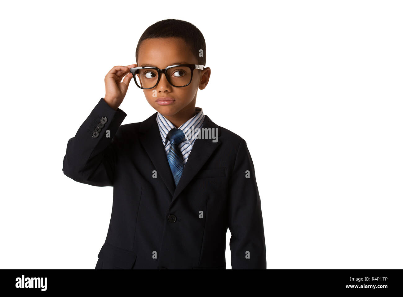
[[[119,127],[126,115],[121,109],[115,111],[101,98],[67,142],[64,175],[91,186],[113,186],[117,150],[123,141]]]

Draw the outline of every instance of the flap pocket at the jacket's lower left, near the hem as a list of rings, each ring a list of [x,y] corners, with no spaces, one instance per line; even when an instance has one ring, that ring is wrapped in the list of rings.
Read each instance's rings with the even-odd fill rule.
[[[98,258],[102,259],[106,264],[116,266],[117,268],[132,269],[137,258],[137,253],[121,249],[106,242],[102,246]]]

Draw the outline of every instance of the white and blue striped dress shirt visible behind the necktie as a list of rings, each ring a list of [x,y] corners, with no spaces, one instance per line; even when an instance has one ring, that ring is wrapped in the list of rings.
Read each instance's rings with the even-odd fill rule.
[[[196,107],[195,111],[197,114],[194,117],[188,119],[185,123],[183,123],[178,128],[183,131],[183,133],[185,134],[185,138],[186,138],[186,140],[181,142],[178,146],[183,155],[183,167],[185,167],[185,165],[186,165],[187,158],[189,157],[190,151],[193,147],[193,143],[195,142],[196,136],[199,133],[199,130],[196,128],[202,128],[202,125],[204,122],[203,109],[201,109],[200,107]],[[158,128],[160,129],[162,143],[165,146],[165,155],[168,155],[171,144],[170,144],[170,141],[168,139],[166,139],[166,136],[168,135],[168,132],[171,129],[175,128],[175,126],[159,112],[157,113],[157,123],[158,123]],[[192,129],[192,126],[194,126],[193,129]]]

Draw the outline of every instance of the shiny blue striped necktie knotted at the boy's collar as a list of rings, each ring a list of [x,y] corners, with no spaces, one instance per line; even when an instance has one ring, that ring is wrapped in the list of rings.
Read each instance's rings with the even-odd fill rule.
[[[175,185],[178,185],[183,172],[183,155],[179,149],[179,144],[186,140],[185,134],[181,129],[171,129],[166,136],[171,143],[168,152],[168,163],[174,177]]]

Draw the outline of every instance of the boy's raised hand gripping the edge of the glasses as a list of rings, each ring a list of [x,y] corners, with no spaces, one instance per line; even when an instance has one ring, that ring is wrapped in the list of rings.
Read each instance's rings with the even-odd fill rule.
[[[110,107],[117,110],[126,96],[127,88],[129,87],[130,79],[133,74],[130,68],[137,67],[137,64],[127,66],[114,66],[105,75],[105,97],[104,100]],[[129,74],[127,74],[129,73]],[[126,75],[126,76],[125,76]],[[123,79],[122,82],[120,82]]]

